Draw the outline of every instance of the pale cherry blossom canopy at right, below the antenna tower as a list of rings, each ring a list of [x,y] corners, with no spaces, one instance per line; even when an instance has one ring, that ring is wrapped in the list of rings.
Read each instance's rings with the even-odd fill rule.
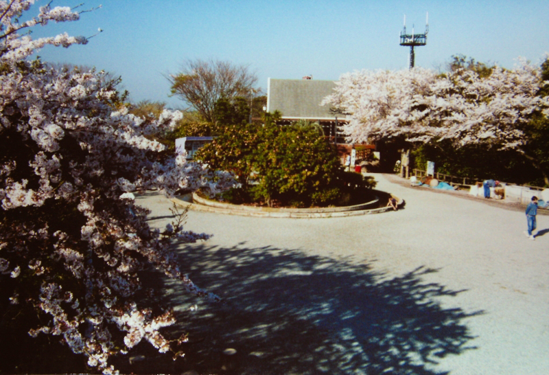
[[[467,69],[364,70],[342,75],[323,104],[347,113],[343,130],[352,142],[404,136],[519,150],[530,115],[549,115],[549,97],[537,95],[547,83],[540,67],[524,59],[514,69],[494,67],[487,77]]]

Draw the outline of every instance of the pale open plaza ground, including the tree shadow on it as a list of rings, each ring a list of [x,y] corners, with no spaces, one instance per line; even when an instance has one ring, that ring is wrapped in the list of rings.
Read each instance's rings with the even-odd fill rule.
[[[524,207],[373,176],[404,209],[187,213],[185,229],[212,237],[174,247],[181,269],[222,298],[164,285],[196,372],[235,348],[237,374],[549,374],[549,216],[528,240]],[[172,219],[156,192],[137,203],[152,227]]]

